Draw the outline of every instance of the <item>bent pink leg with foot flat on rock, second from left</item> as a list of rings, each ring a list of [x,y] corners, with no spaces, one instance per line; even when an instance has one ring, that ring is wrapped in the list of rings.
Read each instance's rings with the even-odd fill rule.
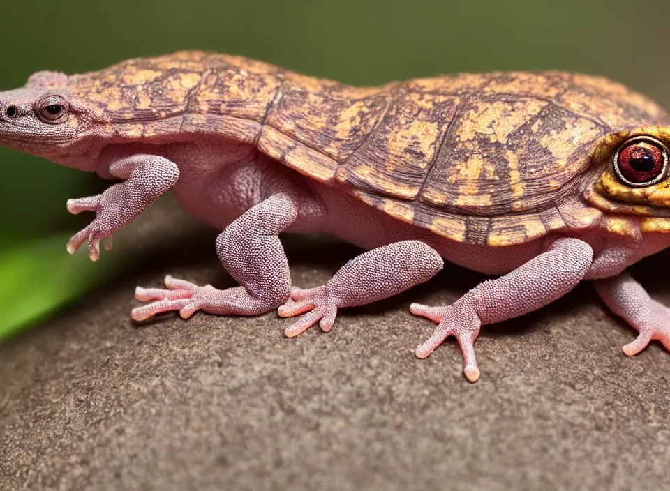
[[[291,275],[278,234],[297,218],[288,192],[279,192],[248,209],[216,239],[223,267],[241,286],[219,290],[211,285],[165,278],[167,289],[137,287],[135,297],[151,301],[133,309],[142,321],[160,312],[178,310],[185,319],[196,310],[215,315],[261,315],[288,299]]]

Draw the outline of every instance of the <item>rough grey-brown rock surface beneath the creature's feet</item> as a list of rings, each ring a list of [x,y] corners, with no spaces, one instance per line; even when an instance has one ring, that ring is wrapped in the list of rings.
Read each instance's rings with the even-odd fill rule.
[[[450,303],[483,279],[447,266],[426,285],[345,310],[331,333],[291,321],[175,315],[137,326],[135,285],[165,273],[232,285],[216,232],[163,202],[124,235],[119,278],[0,345],[0,489],[660,489],[670,482],[670,355],[634,358],[634,331],[588,284],[487,326],[469,384],[455,342],[420,361]],[[178,221],[183,226],[175,226]],[[132,239],[131,239],[132,238]],[[325,282],[359,251],[285,237],[294,281]],[[119,249],[124,248],[124,252]],[[658,277],[670,255],[633,269]]]

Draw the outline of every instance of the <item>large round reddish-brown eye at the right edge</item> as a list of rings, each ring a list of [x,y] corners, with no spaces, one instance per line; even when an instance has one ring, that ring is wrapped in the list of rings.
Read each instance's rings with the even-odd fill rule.
[[[634,137],[624,142],[614,155],[614,172],[623,183],[636,188],[663,179],[667,164],[667,149],[652,137]]]

